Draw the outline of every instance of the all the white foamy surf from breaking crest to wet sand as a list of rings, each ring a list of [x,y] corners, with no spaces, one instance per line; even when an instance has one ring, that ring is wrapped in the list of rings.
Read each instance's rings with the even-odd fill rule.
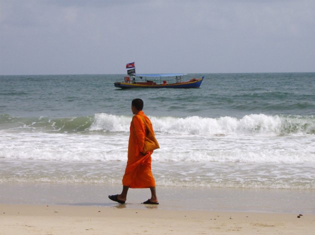
[[[311,117],[150,118],[159,185],[315,189]],[[130,120],[99,113],[79,133],[0,130],[0,182],[120,183]]]

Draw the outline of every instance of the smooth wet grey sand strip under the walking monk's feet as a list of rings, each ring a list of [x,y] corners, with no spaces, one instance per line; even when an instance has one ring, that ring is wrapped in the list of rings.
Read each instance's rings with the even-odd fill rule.
[[[117,184],[88,183],[0,183],[2,204],[48,204],[115,207],[108,195],[121,191]],[[315,190],[247,189],[156,186],[165,210],[205,210],[226,212],[271,212],[315,214]],[[148,188],[128,191],[128,209],[145,208],[141,202],[150,197]]]

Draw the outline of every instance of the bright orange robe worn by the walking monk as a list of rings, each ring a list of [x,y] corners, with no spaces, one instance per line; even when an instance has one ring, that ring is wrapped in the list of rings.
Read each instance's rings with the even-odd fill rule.
[[[146,122],[146,125],[144,124]],[[134,128],[133,128],[134,126]],[[144,136],[148,130],[153,132],[153,127],[149,118],[139,111],[132,117],[130,123],[130,135],[128,143],[128,160],[122,178],[122,185],[131,188],[154,187],[155,180],[151,172],[151,154],[143,154]],[[154,133],[154,132],[153,132]]]

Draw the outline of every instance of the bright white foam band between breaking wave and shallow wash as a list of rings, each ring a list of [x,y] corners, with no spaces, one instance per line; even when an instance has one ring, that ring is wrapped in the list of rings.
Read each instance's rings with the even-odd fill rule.
[[[1,131],[0,157],[125,161],[128,133],[66,134]],[[156,133],[158,161],[315,162],[315,135],[247,136]]]

